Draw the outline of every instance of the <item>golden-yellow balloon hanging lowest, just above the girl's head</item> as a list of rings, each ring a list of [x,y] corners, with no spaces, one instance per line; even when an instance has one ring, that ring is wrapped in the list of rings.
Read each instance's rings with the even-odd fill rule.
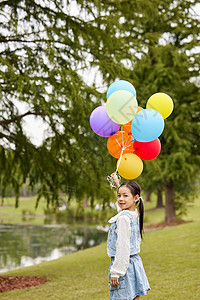
[[[143,162],[136,154],[126,153],[121,161],[117,161],[118,173],[126,179],[134,179],[140,176],[143,170]]]

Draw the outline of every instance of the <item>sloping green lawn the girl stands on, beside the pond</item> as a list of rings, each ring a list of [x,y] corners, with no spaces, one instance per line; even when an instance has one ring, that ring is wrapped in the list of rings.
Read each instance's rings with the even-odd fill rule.
[[[188,219],[200,212],[200,199],[189,206]],[[200,221],[145,234],[141,257],[150,282],[146,299],[200,299]],[[106,243],[60,259],[7,272],[7,275],[48,277],[34,288],[1,294],[2,300],[104,300],[109,299]],[[4,275],[5,275],[4,274]],[[141,297],[143,298],[143,297]]]

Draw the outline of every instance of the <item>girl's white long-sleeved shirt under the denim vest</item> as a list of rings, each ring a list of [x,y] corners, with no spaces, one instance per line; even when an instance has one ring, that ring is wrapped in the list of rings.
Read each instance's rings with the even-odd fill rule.
[[[133,219],[138,218],[138,211],[126,210]],[[112,217],[108,222],[114,223],[117,221],[116,233],[116,255],[114,263],[110,269],[111,277],[124,276],[129,265],[130,257],[130,237],[131,237],[131,222],[130,218],[123,215],[123,211]]]

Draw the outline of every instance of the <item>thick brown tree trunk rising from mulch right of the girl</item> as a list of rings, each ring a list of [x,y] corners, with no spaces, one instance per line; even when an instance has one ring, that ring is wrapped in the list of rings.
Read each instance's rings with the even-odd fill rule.
[[[172,223],[176,221],[175,211],[175,193],[173,181],[164,180],[165,189],[165,222]]]

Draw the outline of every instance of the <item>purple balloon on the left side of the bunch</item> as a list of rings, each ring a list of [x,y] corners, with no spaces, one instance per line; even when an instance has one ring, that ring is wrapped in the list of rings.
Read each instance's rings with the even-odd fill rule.
[[[93,110],[90,115],[90,126],[96,134],[103,137],[115,134],[120,128],[120,124],[116,124],[109,118],[105,105]]]

